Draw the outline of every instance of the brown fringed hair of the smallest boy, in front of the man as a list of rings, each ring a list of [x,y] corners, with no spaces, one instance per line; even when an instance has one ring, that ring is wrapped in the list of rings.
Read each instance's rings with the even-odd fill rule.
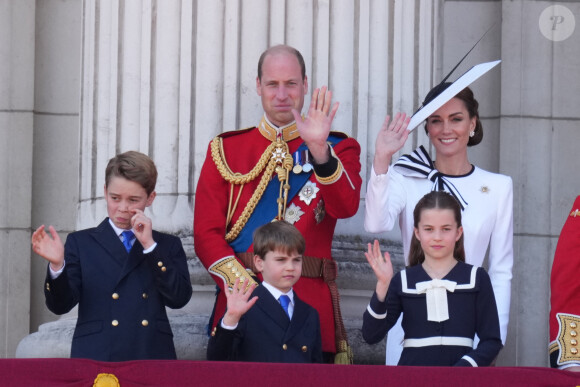
[[[254,254],[261,259],[275,250],[288,255],[294,252],[302,255],[305,248],[306,242],[300,231],[284,220],[266,223],[254,231]]]

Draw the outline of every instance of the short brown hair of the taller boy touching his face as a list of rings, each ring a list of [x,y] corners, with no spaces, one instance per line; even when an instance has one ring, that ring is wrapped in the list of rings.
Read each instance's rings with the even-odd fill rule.
[[[122,177],[145,188],[147,196],[155,190],[157,168],[151,158],[143,153],[128,151],[109,160],[105,170],[105,186],[113,177]]]

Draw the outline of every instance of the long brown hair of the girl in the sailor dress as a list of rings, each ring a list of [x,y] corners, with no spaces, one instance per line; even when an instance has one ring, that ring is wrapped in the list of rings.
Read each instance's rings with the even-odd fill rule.
[[[451,210],[457,222],[457,227],[461,227],[461,207],[457,200],[445,191],[431,191],[423,196],[413,210],[413,226],[419,228],[421,213],[423,210]],[[463,234],[455,242],[453,257],[459,262],[465,262],[465,249],[463,248]],[[421,242],[415,236],[411,238],[411,247],[409,249],[409,266],[415,266],[425,261],[425,252],[421,248]]]

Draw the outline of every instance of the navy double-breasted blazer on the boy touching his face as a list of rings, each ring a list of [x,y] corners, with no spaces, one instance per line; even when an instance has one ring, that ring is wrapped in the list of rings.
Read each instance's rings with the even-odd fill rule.
[[[157,231],[153,239],[148,254],[138,240],[127,253],[108,218],[68,235],[64,271],[54,280],[47,271],[44,295],[56,314],[79,304],[71,357],[176,358],[165,307],[187,304],[191,281],[181,240]]]

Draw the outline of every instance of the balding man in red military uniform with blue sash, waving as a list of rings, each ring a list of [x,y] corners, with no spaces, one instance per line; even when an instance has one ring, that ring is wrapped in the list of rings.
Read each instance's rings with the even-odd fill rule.
[[[302,278],[294,290],[319,313],[323,351],[341,353],[337,359],[345,362],[349,349],[331,244],[337,219],[358,210],[360,146],[330,131],[338,103],[331,108],[325,87],[313,92],[308,114],[300,116],[308,80],[296,49],[266,50],[256,89],[264,108],[259,125],[210,143],[196,189],[195,251],[220,287],[210,323],[215,327],[225,312],[224,285],[232,287],[236,276],[253,271],[253,231],[285,219],[306,240]]]

